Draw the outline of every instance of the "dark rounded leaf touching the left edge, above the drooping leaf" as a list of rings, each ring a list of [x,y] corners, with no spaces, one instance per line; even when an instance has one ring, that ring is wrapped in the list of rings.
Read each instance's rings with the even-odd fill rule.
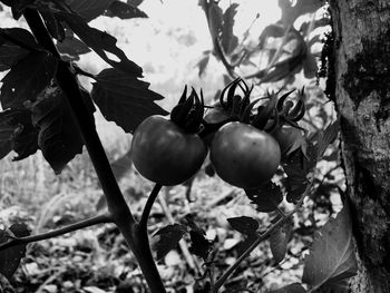
[[[1,80],[2,108],[16,108],[27,100],[35,101],[38,94],[49,85],[56,70],[57,60],[43,52],[30,53],[21,59]]]

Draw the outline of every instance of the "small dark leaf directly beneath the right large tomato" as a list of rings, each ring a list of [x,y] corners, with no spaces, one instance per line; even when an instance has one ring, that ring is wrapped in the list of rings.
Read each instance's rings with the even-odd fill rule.
[[[245,189],[245,194],[252,201],[252,204],[256,205],[256,211],[263,213],[275,211],[283,201],[280,186],[271,180],[257,189]]]

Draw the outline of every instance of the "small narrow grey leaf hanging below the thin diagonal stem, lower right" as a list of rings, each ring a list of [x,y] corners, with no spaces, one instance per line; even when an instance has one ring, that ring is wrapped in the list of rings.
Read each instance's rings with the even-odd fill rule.
[[[270,235],[270,247],[275,263],[283,261],[287,252],[287,243],[291,236],[292,221],[287,218],[283,225],[275,228]]]

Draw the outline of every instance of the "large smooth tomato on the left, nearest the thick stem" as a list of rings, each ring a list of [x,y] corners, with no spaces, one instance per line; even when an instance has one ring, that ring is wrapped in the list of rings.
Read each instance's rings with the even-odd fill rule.
[[[185,133],[162,116],[146,118],[135,130],[131,157],[137,170],[149,180],[176,185],[201,168],[207,147],[196,134]]]

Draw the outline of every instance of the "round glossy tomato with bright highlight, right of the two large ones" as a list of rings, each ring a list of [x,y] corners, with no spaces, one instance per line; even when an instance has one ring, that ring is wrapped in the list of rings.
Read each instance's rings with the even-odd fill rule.
[[[257,188],[276,173],[281,150],[267,133],[251,125],[228,123],[215,134],[209,158],[225,182]]]

